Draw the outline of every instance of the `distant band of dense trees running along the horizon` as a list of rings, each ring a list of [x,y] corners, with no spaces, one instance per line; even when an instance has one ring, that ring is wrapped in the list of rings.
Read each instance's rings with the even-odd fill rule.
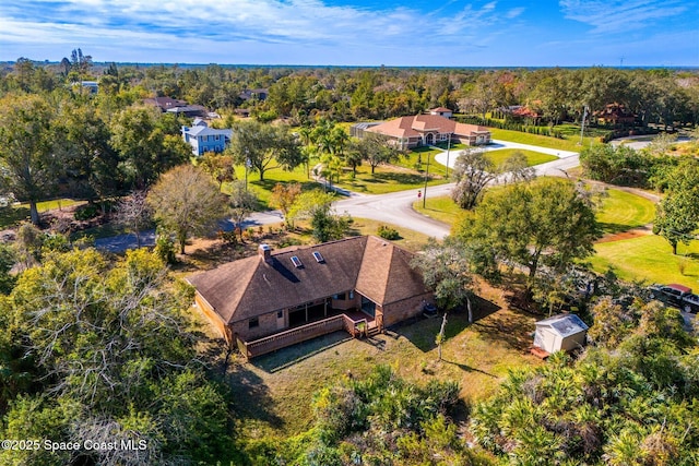
[[[157,94],[204,105],[224,113],[249,108],[266,121],[297,123],[324,116],[334,121],[388,119],[443,106],[486,118],[490,111],[525,105],[537,121],[580,121],[620,104],[638,124],[699,122],[699,76],[691,70],[615,69],[410,69],[117,65],[96,67],[80,49],[60,64],[17,59],[0,72],[0,93],[50,92],[78,79],[99,81],[100,94],[123,99]],[[262,88],[266,98],[245,91]]]

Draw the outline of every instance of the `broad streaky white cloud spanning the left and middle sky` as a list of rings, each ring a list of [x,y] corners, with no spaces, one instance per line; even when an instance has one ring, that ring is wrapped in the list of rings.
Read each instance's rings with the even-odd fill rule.
[[[4,2],[2,2],[4,3]],[[19,2],[22,3],[22,2]],[[163,3],[163,4],[161,4]],[[448,2],[447,4],[451,4]],[[457,17],[445,9],[366,9],[328,5],[321,0],[25,0],[0,4],[0,43],[79,44],[140,48],[143,44],[210,47],[240,43],[307,47],[394,49],[455,44],[505,21],[495,1],[466,5]],[[72,25],[68,27],[67,25]],[[11,32],[11,33],[10,33]]]

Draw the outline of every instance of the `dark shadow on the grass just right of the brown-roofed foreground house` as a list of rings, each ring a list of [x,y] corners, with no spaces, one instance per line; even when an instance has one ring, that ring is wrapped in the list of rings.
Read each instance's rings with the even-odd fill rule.
[[[475,296],[471,298],[473,310],[473,324],[469,323],[469,311],[464,306],[455,311],[450,311],[447,315],[447,326],[445,327],[445,337],[453,338],[463,332],[469,325],[475,325],[482,319],[497,312],[500,307],[495,302]],[[443,314],[442,314],[443,315]],[[413,322],[399,324],[392,327],[401,336],[407,338],[420,351],[428,353],[437,347],[435,338],[441,327],[442,316],[425,319],[423,316],[415,319]]]

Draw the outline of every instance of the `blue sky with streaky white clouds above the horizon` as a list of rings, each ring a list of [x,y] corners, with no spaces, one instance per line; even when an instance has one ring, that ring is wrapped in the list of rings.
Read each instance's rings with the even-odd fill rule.
[[[699,0],[16,0],[0,60],[699,65]]]

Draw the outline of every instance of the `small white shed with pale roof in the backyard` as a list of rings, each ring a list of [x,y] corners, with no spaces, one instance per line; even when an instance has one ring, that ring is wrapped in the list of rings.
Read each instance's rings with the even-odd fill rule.
[[[534,346],[548,354],[570,351],[585,344],[588,325],[576,314],[560,314],[536,322]]]

